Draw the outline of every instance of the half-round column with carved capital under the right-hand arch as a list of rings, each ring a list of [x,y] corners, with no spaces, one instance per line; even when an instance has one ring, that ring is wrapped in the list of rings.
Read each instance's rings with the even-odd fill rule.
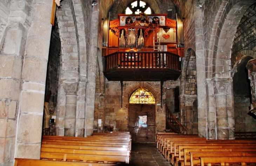
[[[213,88],[214,88],[214,98],[215,98],[215,105],[216,105],[216,128],[217,128],[217,139],[229,139],[230,134],[229,129],[232,128],[234,122],[231,121],[232,119],[232,110],[231,114],[228,114],[228,89],[230,86],[229,78],[218,79],[215,78],[213,80]],[[231,101],[232,102],[232,101]],[[231,119],[230,119],[231,118]],[[229,123],[232,123],[229,125]],[[233,136],[234,138],[234,136]]]

